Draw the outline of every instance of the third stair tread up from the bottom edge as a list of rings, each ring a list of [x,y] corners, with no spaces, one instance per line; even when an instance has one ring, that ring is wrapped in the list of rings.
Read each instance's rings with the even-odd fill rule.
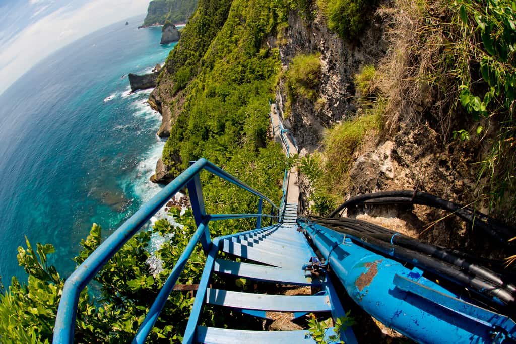
[[[319,285],[319,281],[313,281],[310,273],[298,269],[284,269],[267,267],[263,265],[238,263],[226,259],[215,261],[214,271],[219,273],[232,274],[254,280],[299,284],[299,285]]]

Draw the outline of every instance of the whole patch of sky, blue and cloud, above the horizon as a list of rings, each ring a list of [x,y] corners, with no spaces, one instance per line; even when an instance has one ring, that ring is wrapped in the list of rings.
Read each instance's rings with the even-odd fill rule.
[[[45,57],[104,26],[147,11],[150,0],[0,0],[0,94]]]

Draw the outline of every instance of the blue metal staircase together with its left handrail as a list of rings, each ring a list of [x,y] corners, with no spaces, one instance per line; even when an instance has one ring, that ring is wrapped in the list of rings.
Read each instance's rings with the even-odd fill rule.
[[[202,170],[213,173],[256,195],[258,212],[256,214],[206,214],[199,178]],[[284,204],[278,207],[266,196],[211,162],[199,159],[154,196],[151,201],[143,205],[68,277],[56,317],[55,343],[73,342],[80,291],[123,244],[185,186],[188,188],[193,216],[198,226],[197,231],[172,269],[147,317],[141,324],[133,343],[145,342],[197,243],[201,243],[207,258],[183,342],[314,342],[308,330],[243,331],[198,326],[198,320],[205,305],[225,307],[261,319],[270,318],[270,312],[288,312],[292,313],[294,318],[310,313],[328,313],[333,319],[345,317],[346,313],[329,276],[324,273],[313,274],[310,270],[310,261],[314,257],[316,259],[316,254],[309,244],[305,232],[300,231],[300,227],[296,223],[297,203],[287,203],[284,194],[282,201]],[[284,188],[284,192],[287,192],[286,188]],[[271,211],[268,214],[263,212],[264,201],[271,205]],[[213,240],[210,238],[209,222],[236,218],[257,218],[257,228]],[[271,224],[261,227],[262,218],[270,218]],[[282,219],[282,222],[272,224],[275,219]],[[214,274],[288,286],[311,286],[320,291],[313,295],[287,296],[220,290],[210,287]],[[341,340],[351,344],[357,342],[351,329],[343,328],[342,330],[337,331],[340,333]],[[333,327],[326,330],[327,336],[334,333]]]

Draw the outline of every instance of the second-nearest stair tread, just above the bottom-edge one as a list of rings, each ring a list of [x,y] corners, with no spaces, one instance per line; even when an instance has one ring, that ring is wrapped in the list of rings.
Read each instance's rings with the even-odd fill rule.
[[[329,312],[332,309],[327,295],[269,295],[212,288],[206,289],[206,303],[272,312]]]

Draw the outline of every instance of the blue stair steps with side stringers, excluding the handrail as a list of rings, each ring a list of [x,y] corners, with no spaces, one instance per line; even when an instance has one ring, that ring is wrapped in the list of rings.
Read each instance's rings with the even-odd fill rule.
[[[318,279],[310,271],[303,270],[315,252],[297,227],[295,223],[278,223],[213,240],[183,342],[314,342],[307,330],[243,331],[198,326],[200,310],[205,304],[237,309],[262,319],[270,319],[269,312],[289,312],[295,318],[319,312],[330,312],[334,319],[345,316],[328,276]],[[220,252],[253,263],[217,258]],[[208,288],[214,273],[285,285],[313,286],[321,291],[311,296],[286,296]],[[333,328],[327,331],[331,334]],[[341,339],[347,343],[357,342],[350,329],[342,333]]]

